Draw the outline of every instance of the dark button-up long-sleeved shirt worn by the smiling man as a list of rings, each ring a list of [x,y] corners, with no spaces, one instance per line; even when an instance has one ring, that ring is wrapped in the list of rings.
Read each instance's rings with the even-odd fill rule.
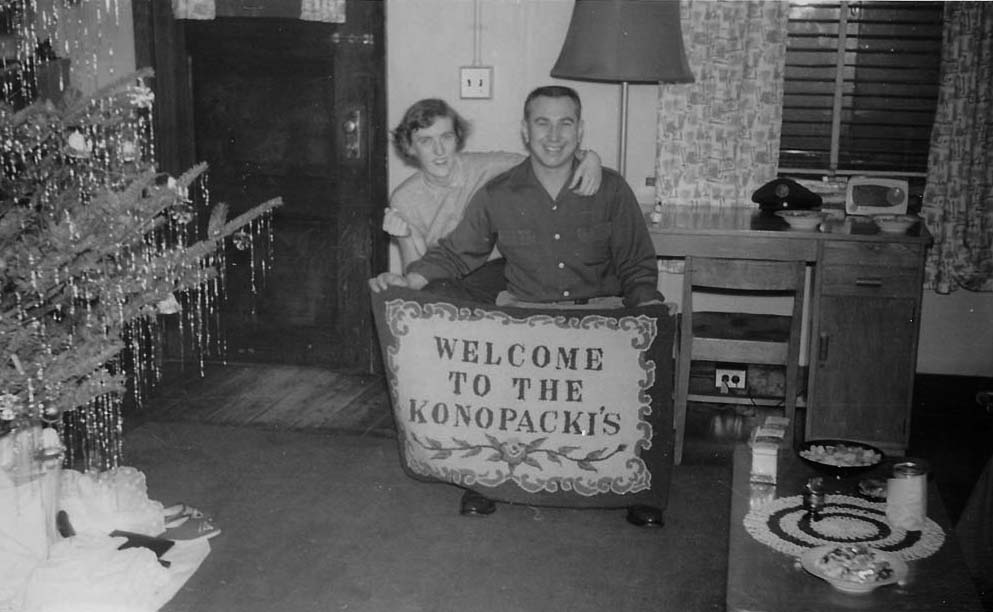
[[[495,245],[507,260],[507,288],[520,300],[658,298],[655,248],[627,182],[604,168],[591,196],[567,185],[553,200],[524,160],[476,192],[459,225],[407,271],[429,281],[461,278]]]

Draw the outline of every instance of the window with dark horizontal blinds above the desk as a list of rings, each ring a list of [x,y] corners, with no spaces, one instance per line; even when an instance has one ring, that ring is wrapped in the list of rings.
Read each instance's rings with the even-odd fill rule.
[[[783,174],[922,177],[942,2],[790,1]]]

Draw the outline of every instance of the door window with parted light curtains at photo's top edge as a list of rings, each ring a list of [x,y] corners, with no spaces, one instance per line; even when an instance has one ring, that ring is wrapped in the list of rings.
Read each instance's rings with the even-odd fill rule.
[[[345,23],[345,0],[172,0],[172,14],[176,19],[286,17]]]

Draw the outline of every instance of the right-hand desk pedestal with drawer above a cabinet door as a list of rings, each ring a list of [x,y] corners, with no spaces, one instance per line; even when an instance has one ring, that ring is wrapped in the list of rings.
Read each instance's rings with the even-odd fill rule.
[[[886,235],[821,243],[806,438],[906,450],[925,244]]]

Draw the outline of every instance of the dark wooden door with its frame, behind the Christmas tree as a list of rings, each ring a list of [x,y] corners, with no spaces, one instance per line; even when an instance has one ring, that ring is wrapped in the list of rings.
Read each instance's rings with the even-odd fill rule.
[[[168,5],[134,4],[163,169],[206,161],[211,200],[232,215],[284,201],[265,278],[228,247],[227,358],[376,370],[366,280],[386,261],[382,3],[349,0],[344,24],[175,20]]]

